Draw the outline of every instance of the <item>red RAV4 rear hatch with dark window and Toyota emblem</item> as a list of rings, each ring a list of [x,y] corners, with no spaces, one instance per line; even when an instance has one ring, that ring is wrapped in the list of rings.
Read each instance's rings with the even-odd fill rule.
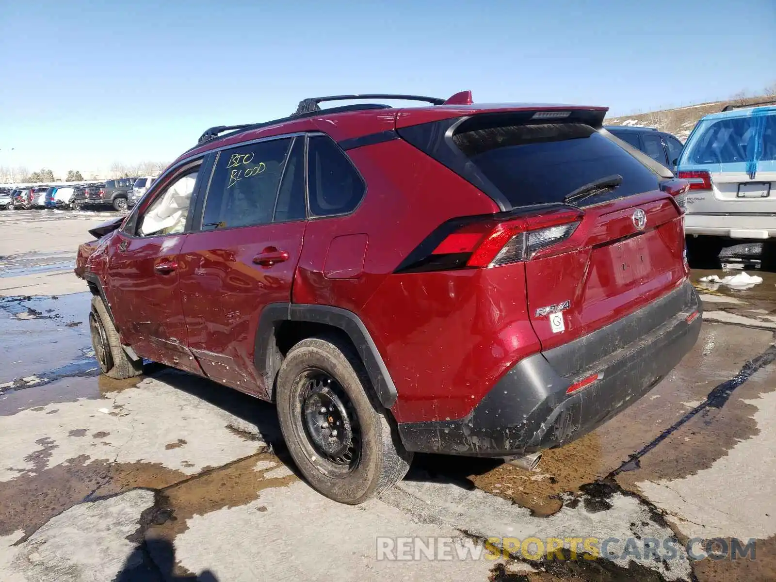
[[[688,276],[682,212],[661,190],[668,182],[598,132],[603,113],[563,113],[469,117],[442,131],[461,165],[440,153],[432,137],[439,128],[400,130],[469,182],[495,192],[494,199],[501,196],[505,217],[525,217],[516,245],[522,245],[529,316],[543,349],[618,320]],[[569,199],[575,191],[580,196]]]

